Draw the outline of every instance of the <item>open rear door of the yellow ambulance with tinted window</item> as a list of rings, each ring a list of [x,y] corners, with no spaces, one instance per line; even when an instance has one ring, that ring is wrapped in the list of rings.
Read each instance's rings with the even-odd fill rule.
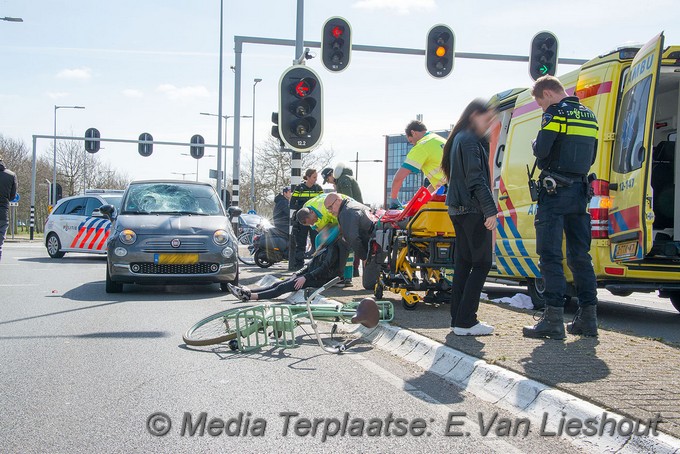
[[[662,49],[660,33],[637,53],[624,83],[609,187],[610,252],[615,262],[642,260],[652,248],[650,167]]]

